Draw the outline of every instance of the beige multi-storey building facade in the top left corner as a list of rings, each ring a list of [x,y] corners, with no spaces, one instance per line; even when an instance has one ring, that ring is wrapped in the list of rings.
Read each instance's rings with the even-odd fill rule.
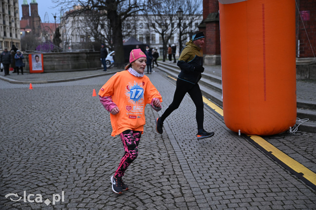
[[[18,0],[0,0],[0,50],[20,48],[20,18]]]

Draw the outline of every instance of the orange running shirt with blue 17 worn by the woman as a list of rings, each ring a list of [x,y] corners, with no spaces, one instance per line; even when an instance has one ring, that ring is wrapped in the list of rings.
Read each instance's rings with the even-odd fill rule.
[[[143,131],[145,125],[145,106],[153,98],[162,102],[162,97],[149,78],[135,77],[127,70],[114,74],[99,91],[101,97],[112,96],[119,113],[111,114],[111,136],[125,130]]]

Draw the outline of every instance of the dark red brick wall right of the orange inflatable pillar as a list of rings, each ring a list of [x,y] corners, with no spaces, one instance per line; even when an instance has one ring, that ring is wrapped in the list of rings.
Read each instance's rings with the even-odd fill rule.
[[[299,13],[296,12],[296,27],[298,27],[296,45],[298,40],[300,40],[299,57],[314,57],[313,52],[314,54],[316,53],[316,0],[296,0],[296,3],[300,8],[299,10],[301,13],[300,16]],[[298,56],[297,49],[298,48],[296,48],[296,56]]]

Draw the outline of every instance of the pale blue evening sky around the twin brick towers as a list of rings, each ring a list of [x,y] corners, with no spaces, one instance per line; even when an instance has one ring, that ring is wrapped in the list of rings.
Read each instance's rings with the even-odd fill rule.
[[[23,0],[19,0],[19,12],[20,12],[20,20],[22,17],[22,3]],[[30,5],[31,0],[27,0],[28,5]],[[54,23],[55,19],[54,19],[54,15],[56,14],[57,18],[56,18],[56,23],[59,23],[59,17],[60,17],[60,7],[58,8],[54,8],[56,4],[52,3],[52,0],[36,0],[36,3],[38,4],[38,13],[40,15],[40,19],[42,21],[42,23],[44,22],[50,22],[50,23]],[[46,17],[45,17],[45,13]],[[31,15],[31,7],[30,7],[30,11],[29,11],[30,15]],[[52,15],[54,14],[54,15]]]

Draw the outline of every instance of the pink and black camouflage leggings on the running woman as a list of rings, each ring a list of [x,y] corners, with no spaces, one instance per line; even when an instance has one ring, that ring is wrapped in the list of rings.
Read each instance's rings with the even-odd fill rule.
[[[139,144],[141,135],[142,131],[133,130],[126,130],[120,133],[120,137],[125,149],[125,154],[122,157],[119,167],[114,174],[115,177],[123,177],[127,167],[137,158],[137,146]]]

